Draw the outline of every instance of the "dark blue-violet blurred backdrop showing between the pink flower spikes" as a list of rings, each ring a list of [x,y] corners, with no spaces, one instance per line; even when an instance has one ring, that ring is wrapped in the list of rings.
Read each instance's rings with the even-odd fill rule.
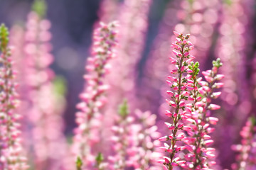
[[[75,128],[75,105],[80,101],[78,94],[82,91],[85,74],[85,61],[90,56],[92,30],[99,20],[100,0],[78,1],[46,1],[46,18],[51,22],[50,32],[53,38],[53,56],[55,61],[50,66],[54,72],[67,81],[68,102],[65,111],[67,122],[66,132],[72,133]],[[122,1],[120,1],[122,2]],[[117,1],[118,3],[118,1]],[[149,54],[149,47],[157,34],[161,16],[168,1],[154,1],[149,13],[149,33],[146,40],[144,57]],[[25,24],[28,13],[31,11],[33,1],[1,1],[0,21],[11,28],[14,24]],[[171,32],[171,30],[170,30]],[[145,60],[145,59],[143,59]],[[143,62],[143,61],[142,61]],[[142,63],[143,64],[143,63]],[[141,65],[142,65],[141,64]]]

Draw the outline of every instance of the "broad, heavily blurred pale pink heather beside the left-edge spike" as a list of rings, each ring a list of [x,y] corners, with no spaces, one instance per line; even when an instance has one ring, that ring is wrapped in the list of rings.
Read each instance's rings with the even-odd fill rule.
[[[14,67],[18,70],[16,76],[20,85],[17,90],[21,98],[17,112],[23,115],[23,143],[28,159],[35,163],[33,167],[38,170],[73,169],[63,134],[65,98],[64,94],[55,92],[52,82],[55,76],[49,68],[53,62],[49,29],[50,21],[35,12],[28,14],[26,30],[19,26],[12,29],[10,40],[15,46]],[[63,83],[58,78],[55,82]]]

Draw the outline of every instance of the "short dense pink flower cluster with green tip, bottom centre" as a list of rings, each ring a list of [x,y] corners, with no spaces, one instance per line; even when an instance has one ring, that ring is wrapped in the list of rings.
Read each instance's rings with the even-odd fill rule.
[[[112,147],[114,155],[109,157],[110,169],[158,169],[155,159],[159,153],[155,152],[159,137],[156,132],[156,115],[149,111],[142,113],[136,110],[134,116],[129,113],[127,101],[119,106],[119,114],[115,117],[112,131]]]

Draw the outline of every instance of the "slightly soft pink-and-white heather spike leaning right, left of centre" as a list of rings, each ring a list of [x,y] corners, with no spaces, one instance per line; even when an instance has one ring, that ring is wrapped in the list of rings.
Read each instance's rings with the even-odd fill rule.
[[[92,67],[88,71],[90,79],[82,92],[82,102],[78,104],[80,112],[76,113],[78,128],[75,129],[73,149],[75,154],[81,157],[85,167],[95,166],[95,155],[92,148],[99,141],[99,127],[102,122],[100,108],[105,102],[105,75],[106,64],[114,57],[114,46],[117,45],[117,23],[100,23],[100,28],[95,30],[92,57],[89,57],[87,66]],[[89,77],[88,77],[89,78]]]

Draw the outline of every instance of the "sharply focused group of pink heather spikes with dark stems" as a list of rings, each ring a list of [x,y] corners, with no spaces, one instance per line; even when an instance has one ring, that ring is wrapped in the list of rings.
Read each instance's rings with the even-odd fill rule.
[[[188,41],[190,35],[177,32],[174,34],[177,38],[171,47],[175,49],[175,57],[170,57],[171,64],[175,65],[175,69],[171,71],[174,76],[169,76],[167,80],[172,89],[167,94],[172,100],[166,100],[172,109],[165,113],[172,120],[171,123],[165,123],[171,130],[171,135],[159,138],[160,141],[169,141],[161,147],[169,157],[164,157],[160,162],[164,164],[164,169],[174,169],[174,166],[181,166],[183,169],[207,169],[215,164],[208,162],[208,159],[215,157],[215,149],[208,147],[213,143],[208,134],[214,130],[209,128],[209,123],[215,125],[218,118],[210,117],[209,111],[220,108],[212,104],[211,99],[220,96],[220,92],[213,93],[213,90],[223,86],[223,83],[216,82],[223,78],[222,74],[217,74],[222,63],[219,59],[213,61],[213,69],[203,72],[206,81],[202,81],[202,78],[198,78],[199,63],[192,62],[195,57],[189,54],[193,50],[193,45]],[[182,159],[177,153],[184,149],[190,153]]]

